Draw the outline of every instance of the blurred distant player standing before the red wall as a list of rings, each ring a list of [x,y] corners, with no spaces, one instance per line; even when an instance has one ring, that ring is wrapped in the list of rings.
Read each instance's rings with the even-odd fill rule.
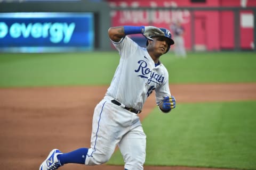
[[[172,32],[174,33],[174,53],[178,57],[186,57],[186,49],[185,49],[185,43],[183,39],[183,35],[185,32],[184,27],[181,24],[180,20],[177,20],[171,25]]]

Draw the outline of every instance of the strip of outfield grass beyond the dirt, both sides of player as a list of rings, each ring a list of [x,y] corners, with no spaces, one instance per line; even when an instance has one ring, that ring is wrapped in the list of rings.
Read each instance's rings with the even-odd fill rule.
[[[256,82],[252,52],[173,53],[161,57],[170,83]],[[0,87],[108,85],[118,52],[0,54]]]

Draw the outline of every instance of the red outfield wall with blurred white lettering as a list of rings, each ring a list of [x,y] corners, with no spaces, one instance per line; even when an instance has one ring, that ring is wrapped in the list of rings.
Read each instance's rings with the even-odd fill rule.
[[[114,26],[149,24],[171,29],[174,22],[181,21],[187,50],[255,49],[254,0],[108,2],[113,9],[111,21]]]

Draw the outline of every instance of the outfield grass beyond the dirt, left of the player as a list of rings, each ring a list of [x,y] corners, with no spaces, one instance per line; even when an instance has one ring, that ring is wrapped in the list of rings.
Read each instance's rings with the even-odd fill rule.
[[[107,84],[118,62],[110,53],[2,54],[0,86]]]

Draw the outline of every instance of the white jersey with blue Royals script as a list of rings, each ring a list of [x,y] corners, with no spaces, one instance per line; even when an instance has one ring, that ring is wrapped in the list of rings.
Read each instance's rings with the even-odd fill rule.
[[[121,56],[106,96],[127,107],[141,110],[147,97],[155,90],[156,103],[171,96],[169,74],[161,63],[155,66],[146,48],[125,36],[119,43],[112,41]]]

